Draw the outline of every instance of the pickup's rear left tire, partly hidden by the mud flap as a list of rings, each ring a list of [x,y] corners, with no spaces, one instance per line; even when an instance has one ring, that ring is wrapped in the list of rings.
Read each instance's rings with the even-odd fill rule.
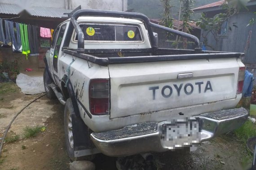
[[[64,110],[66,152],[72,161],[81,161],[81,160],[91,161],[95,158],[95,155],[75,157],[73,132],[72,132],[72,115],[75,115],[75,111],[74,111],[71,98],[68,98],[66,100],[66,105]]]

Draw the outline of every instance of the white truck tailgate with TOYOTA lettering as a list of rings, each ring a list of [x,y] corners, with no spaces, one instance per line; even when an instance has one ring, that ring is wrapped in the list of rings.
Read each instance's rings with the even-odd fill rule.
[[[110,119],[236,98],[238,71],[237,58],[110,64]]]

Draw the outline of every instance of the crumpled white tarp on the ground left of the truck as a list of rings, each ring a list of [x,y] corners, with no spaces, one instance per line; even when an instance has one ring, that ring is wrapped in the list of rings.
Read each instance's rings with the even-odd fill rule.
[[[16,84],[19,86],[19,88],[21,88],[22,93],[25,94],[37,94],[45,92],[43,76],[31,77],[20,73],[16,78]]]

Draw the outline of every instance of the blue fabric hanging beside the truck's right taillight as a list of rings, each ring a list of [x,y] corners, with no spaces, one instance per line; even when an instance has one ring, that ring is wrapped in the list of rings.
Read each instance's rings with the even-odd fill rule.
[[[244,97],[252,96],[253,81],[254,81],[253,74],[245,70],[243,91],[242,91],[242,94]]]

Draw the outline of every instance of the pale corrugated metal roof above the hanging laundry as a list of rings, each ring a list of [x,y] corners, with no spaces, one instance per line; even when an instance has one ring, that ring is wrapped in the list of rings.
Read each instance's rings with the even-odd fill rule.
[[[18,15],[23,9],[18,5],[13,4],[0,4],[0,13],[4,14],[15,14]],[[63,13],[70,13],[71,9],[57,9],[57,8],[46,8],[46,7],[31,7],[26,11],[35,17],[53,17],[61,18],[67,17]]]

